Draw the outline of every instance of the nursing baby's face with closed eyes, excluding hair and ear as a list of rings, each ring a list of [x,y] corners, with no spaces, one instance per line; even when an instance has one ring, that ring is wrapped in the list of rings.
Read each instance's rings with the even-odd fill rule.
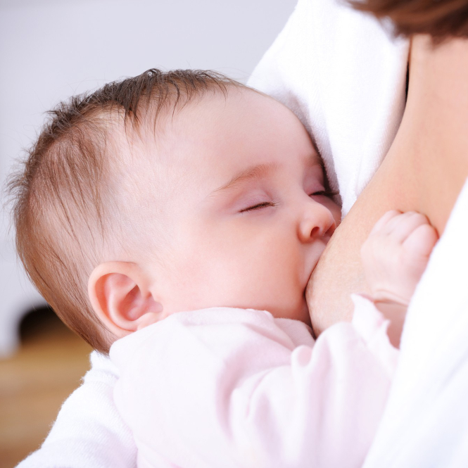
[[[231,89],[187,105],[151,146],[169,241],[146,267],[165,312],[254,308],[310,324],[305,286],[340,208],[298,118]]]

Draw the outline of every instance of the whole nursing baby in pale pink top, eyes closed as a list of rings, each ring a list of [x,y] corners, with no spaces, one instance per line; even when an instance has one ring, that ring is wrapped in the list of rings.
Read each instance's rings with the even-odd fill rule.
[[[372,301],[315,341],[304,291],[340,207],[274,99],[148,70],[53,110],[11,185],[32,281],[118,365],[139,467],[361,466],[396,365],[376,304],[404,317],[422,215],[377,223]]]

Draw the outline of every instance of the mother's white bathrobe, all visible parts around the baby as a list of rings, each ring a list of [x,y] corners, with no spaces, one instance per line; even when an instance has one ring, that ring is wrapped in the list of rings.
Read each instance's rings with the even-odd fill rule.
[[[396,134],[407,51],[407,42],[339,0],[300,0],[251,78],[308,126],[343,213]],[[465,186],[410,305],[400,365],[365,468],[468,466],[467,213]],[[117,370],[97,353],[91,365],[42,448],[20,468],[136,466],[132,433],[113,403]]]

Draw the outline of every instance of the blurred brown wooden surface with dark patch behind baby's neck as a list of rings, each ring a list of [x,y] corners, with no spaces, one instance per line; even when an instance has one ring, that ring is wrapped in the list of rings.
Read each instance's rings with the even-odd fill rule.
[[[89,346],[47,309],[23,321],[22,336],[19,353],[0,360],[0,468],[39,447],[89,368]]]

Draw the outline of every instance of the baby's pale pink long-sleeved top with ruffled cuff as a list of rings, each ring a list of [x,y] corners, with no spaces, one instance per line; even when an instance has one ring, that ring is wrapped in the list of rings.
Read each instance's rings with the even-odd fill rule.
[[[360,296],[317,341],[269,312],[179,312],[116,341],[115,403],[139,468],[359,468],[398,351]]]

